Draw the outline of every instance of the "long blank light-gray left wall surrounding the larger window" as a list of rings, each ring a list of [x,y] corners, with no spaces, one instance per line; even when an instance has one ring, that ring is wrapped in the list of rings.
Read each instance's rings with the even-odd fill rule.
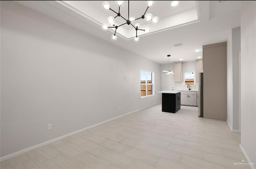
[[[160,64],[2,1],[0,157],[159,102],[140,69],[160,91]]]

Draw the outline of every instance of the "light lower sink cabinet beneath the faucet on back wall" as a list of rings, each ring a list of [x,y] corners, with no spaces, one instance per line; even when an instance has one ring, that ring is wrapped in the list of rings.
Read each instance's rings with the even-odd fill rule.
[[[189,92],[189,93],[188,93]],[[191,93],[190,93],[191,92]],[[197,105],[196,91],[185,91],[181,92],[180,103],[182,105]]]

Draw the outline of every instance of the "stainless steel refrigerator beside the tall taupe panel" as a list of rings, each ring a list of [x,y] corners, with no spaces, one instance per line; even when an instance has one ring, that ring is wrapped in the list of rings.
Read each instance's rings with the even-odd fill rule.
[[[198,117],[204,117],[204,73],[199,73],[198,82]]]

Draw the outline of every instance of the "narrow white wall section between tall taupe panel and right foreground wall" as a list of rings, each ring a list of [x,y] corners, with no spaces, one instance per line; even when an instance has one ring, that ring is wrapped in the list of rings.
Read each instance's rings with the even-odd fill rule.
[[[239,119],[239,66],[241,50],[240,27],[230,30],[227,42],[227,121],[231,130],[240,132]]]

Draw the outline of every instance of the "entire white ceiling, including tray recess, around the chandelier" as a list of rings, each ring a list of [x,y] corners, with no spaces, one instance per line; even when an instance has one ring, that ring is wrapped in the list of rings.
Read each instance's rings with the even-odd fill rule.
[[[129,28],[128,25],[119,27],[120,33],[117,35],[120,37],[117,41],[111,40],[110,36],[113,34],[111,30],[106,32],[101,30],[101,24],[106,22],[106,18],[114,16],[114,12],[102,10],[104,1],[16,2],[159,64],[168,63],[166,57],[168,54],[172,55],[170,62],[180,61],[180,58],[183,59],[183,62],[196,60],[198,56],[202,56],[203,45],[226,42],[230,29],[240,26],[240,8],[242,6],[242,1],[230,0],[219,3],[218,0],[212,0],[180,1],[179,5],[174,8],[170,6],[171,1],[156,1],[155,6],[149,8],[147,13],[150,12],[153,16],[158,16],[160,22],[158,25],[149,25],[148,27],[153,30],[152,34],[140,36],[140,42],[135,43],[129,37],[129,34],[134,36],[132,34],[135,34],[135,30]],[[113,10],[118,10],[114,1],[108,2]],[[126,17],[127,5],[126,2],[120,10],[121,15]],[[124,14],[122,14],[122,10],[124,10]],[[145,10],[146,0],[130,1],[130,16],[134,14],[135,18],[140,17]],[[196,10],[198,14],[196,20],[186,13],[190,10]],[[175,18],[177,16],[183,18]],[[192,20],[189,21],[188,18],[192,18]],[[185,20],[187,22],[183,22]],[[143,22],[141,23],[143,24]],[[126,34],[127,31],[128,34]],[[174,47],[173,44],[177,43],[183,45]],[[195,52],[196,49],[199,49],[200,52]]]

